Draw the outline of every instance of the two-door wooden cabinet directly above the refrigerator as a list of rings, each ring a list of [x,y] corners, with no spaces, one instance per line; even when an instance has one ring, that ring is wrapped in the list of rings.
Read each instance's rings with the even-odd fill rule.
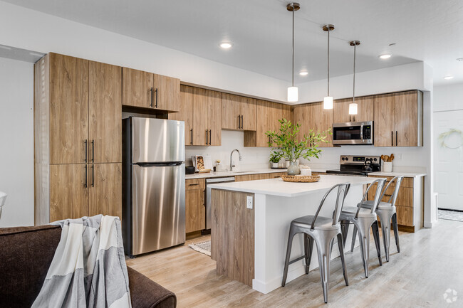
[[[123,105],[177,112],[180,79],[123,68]]]

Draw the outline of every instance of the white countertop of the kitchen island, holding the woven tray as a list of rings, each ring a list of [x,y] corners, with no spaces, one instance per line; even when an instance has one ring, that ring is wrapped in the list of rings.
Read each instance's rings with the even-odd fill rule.
[[[315,183],[292,183],[285,182],[282,179],[267,179],[213,184],[208,187],[244,193],[262,193],[270,196],[296,197],[308,195],[317,191],[326,191],[335,184],[349,182],[354,186],[370,184],[373,181],[375,181],[375,179],[366,176],[321,175],[320,181]]]

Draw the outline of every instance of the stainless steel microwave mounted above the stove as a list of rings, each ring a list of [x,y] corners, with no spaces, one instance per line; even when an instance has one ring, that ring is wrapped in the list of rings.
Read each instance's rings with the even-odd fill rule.
[[[373,121],[333,124],[333,144],[373,144]]]

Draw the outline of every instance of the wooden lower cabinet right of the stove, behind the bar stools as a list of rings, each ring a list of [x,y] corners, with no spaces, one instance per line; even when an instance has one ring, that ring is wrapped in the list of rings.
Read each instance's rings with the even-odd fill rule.
[[[392,179],[387,176],[387,184]],[[397,225],[399,230],[406,232],[415,232],[422,228],[423,223],[423,178],[404,178],[400,185],[399,193],[395,201],[395,210],[397,212]],[[375,198],[375,189],[372,187],[368,191],[368,200]],[[394,192],[395,185],[391,185],[385,191],[383,202],[389,201],[390,196]]]

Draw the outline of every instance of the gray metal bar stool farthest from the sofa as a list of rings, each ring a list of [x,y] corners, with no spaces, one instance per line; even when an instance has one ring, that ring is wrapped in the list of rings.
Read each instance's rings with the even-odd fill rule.
[[[383,194],[380,198],[380,204],[378,204],[378,208],[376,208],[376,214],[380,217],[381,221],[381,232],[383,233],[383,243],[384,243],[384,251],[386,255],[386,261],[389,262],[389,248],[390,248],[390,224],[392,221],[392,228],[394,228],[394,237],[395,237],[395,246],[397,247],[397,253],[400,253],[400,245],[399,245],[399,228],[397,227],[397,211],[395,208],[395,201],[397,200],[397,195],[399,193],[400,184],[402,184],[403,176],[395,176],[392,180],[389,181],[386,188],[383,190]],[[392,194],[387,194],[390,192],[389,186],[395,182],[395,188]],[[383,202],[384,196],[389,196],[389,200],[387,202]],[[372,208],[373,201],[365,201],[362,204],[362,208]],[[355,227],[354,227],[355,228]],[[355,232],[355,229],[354,229]],[[350,251],[353,250],[353,246],[355,243],[355,237],[352,240],[352,246]]]

